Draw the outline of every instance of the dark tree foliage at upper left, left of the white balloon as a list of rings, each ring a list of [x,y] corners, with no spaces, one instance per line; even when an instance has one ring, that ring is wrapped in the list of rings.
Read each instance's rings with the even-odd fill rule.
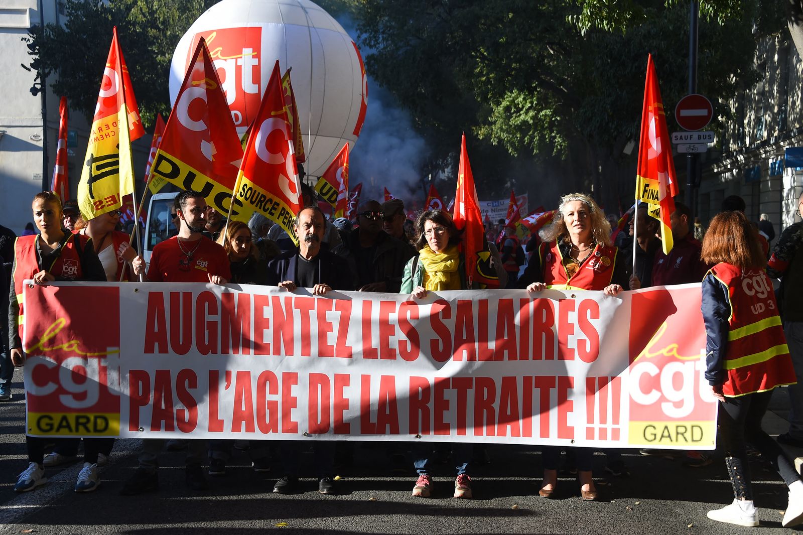
[[[145,125],[170,109],[169,69],[173,50],[198,16],[214,0],[67,0],[64,26],[35,27],[35,67],[52,78],[53,90],[88,117],[97,103],[112,28],[131,73]],[[39,59],[36,62],[36,59]]]

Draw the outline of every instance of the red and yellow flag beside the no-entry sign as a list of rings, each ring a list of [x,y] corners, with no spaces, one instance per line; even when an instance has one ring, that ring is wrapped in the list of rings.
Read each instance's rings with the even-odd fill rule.
[[[672,227],[669,218],[675,211],[673,197],[677,194],[678,182],[675,163],[672,161],[672,145],[666,130],[666,114],[663,110],[661,91],[658,89],[658,76],[655,74],[652,55],[649,55],[644,84],[642,132],[638,145],[636,201],[648,203],[650,205],[648,212],[661,223],[664,254],[669,254],[672,250]]]

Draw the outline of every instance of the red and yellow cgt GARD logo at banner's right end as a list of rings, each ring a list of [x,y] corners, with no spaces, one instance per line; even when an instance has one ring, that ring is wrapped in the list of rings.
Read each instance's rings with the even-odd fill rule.
[[[673,292],[675,300],[680,293],[691,304],[686,310],[695,313],[679,314],[670,292],[662,288],[632,294],[629,443],[710,449],[716,439],[717,405],[703,376],[700,289],[690,285]],[[655,418],[656,406],[664,418]]]

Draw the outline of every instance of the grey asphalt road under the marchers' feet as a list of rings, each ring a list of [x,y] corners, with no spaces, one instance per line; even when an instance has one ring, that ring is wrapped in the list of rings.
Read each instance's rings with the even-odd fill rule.
[[[630,477],[608,476],[605,456],[595,455],[601,500],[583,502],[571,476],[559,480],[557,499],[537,496],[540,454],[535,448],[487,448],[490,464],[471,468],[474,500],[451,496],[454,472],[438,465],[434,496],[410,496],[415,475],[393,473],[384,444],[357,443],[354,463],[338,468],[337,496],[322,496],[316,481],[303,492],[271,492],[275,476],[256,476],[242,452],[226,476],[209,478],[210,490],[185,488],[183,455],[162,455],[158,492],[124,497],[118,492],[136,467],[137,440],[119,440],[96,492],[72,492],[80,464],[47,470],[49,482],[16,494],[16,476],[26,468],[21,374],[14,400],[0,404],[0,531],[2,533],[793,533],[781,528],[786,488],[760,457],[752,462],[758,528],[709,521],[706,511],[732,500],[724,462],[685,468],[679,459],[626,452]],[[774,415],[773,415],[774,416]],[[779,421],[775,417],[776,423]],[[305,455],[302,465],[312,466]]]

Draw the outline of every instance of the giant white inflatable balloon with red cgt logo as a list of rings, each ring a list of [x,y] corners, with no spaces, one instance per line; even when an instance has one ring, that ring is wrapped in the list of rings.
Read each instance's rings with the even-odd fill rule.
[[[201,37],[240,135],[259,111],[279,59],[282,73],[292,68],[307,174],[323,174],[347,141],[353,148],[368,106],[365,66],[357,44],[320,6],[308,0],[223,0],[210,7],[173,53],[172,101]]]

